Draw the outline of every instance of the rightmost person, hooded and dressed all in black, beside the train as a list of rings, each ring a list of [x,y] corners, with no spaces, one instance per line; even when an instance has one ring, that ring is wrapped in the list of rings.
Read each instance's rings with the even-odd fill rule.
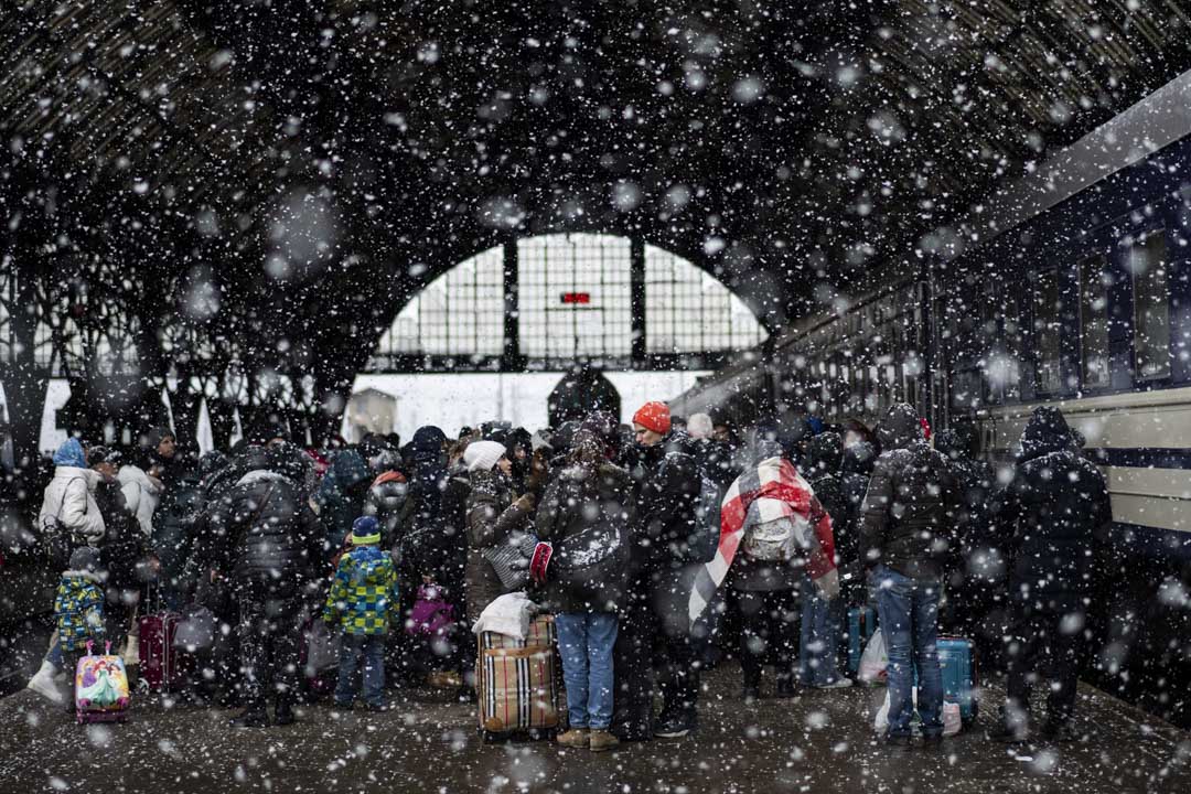
[[[1022,432],[1014,479],[993,502],[997,532],[1009,543],[1011,629],[1003,723],[993,738],[1024,740],[1031,679],[1049,671],[1049,739],[1075,738],[1071,715],[1092,588],[1095,540],[1112,523],[1104,475],[1079,456],[1062,412],[1040,406]]]

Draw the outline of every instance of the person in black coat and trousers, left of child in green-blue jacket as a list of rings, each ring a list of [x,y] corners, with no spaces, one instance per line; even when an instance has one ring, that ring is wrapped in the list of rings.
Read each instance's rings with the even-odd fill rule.
[[[248,473],[211,511],[201,543],[206,567],[227,576],[239,611],[247,708],[232,720],[236,727],[269,724],[266,682],[276,724],[293,721],[301,607],[317,596],[324,573],[322,524],[300,487],[282,474],[292,473],[292,462],[281,458],[249,448]]]

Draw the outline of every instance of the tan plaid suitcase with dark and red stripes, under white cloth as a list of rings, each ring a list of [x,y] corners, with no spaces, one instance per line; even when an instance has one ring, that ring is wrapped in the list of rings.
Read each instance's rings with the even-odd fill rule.
[[[538,615],[524,640],[480,634],[476,693],[486,739],[545,737],[559,727],[559,682],[553,615]]]

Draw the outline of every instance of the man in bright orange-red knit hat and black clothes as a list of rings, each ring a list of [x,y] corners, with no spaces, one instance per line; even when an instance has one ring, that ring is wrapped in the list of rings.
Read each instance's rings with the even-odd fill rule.
[[[701,477],[682,439],[671,432],[665,404],[647,402],[632,424],[638,458],[630,474],[636,484],[640,532],[632,552],[630,598],[617,638],[613,732],[622,739],[649,738],[651,695],[641,687],[648,682],[650,667],[656,667],[662,711],[651,733],[679,738],[698,726],[700,664],[696,643],[685,630],[685,605],[675,602],[674,590],[678,571],[691,562]],[[675,614],[682,619],[675,620]],[[625,693],[625,687],[632,692]]]

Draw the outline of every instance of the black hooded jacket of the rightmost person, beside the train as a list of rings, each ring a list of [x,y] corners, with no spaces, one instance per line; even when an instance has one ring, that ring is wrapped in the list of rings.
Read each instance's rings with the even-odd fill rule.
[[[1011,538],[1010,594],[1065,599],[1092,584],[1093,540],[1112,521],[1104,476],[1079,457],[1062,413],[1040,406],[1022,432],[1012,481],[993,505],[997,532]]]

